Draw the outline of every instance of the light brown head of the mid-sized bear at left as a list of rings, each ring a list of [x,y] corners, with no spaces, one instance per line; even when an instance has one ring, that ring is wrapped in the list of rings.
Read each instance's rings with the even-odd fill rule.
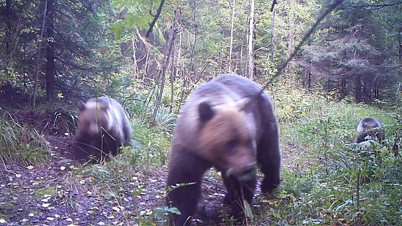
[[[102,127],[106,130],[110,127],[108,117],[108,105],[101,101],[81,102],[78,129],[90,137],[100,136]]]

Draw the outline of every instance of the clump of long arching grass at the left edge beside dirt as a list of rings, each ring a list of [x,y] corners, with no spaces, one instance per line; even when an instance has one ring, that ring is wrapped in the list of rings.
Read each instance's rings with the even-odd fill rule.
[[[35,129],[28,129],[10,114],[0,117],[0,158],[8,163],[42,166],[49,143]]]

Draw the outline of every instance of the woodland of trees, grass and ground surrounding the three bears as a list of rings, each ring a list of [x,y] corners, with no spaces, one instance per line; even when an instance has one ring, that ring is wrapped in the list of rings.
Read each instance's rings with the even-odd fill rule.
[[[250,225],[400,224],[402,1],[343,0],[297,49],[335,2],[1,0],[0,224],[166,225],[180,108],[226,72],[265,87],[281,129],[282,184]],[[132,144],[77,165],[78,101],[102,95]],[[383,144],[353,144],[363,117]],[[221,208],[219,173],[204,182],[200,205]]]

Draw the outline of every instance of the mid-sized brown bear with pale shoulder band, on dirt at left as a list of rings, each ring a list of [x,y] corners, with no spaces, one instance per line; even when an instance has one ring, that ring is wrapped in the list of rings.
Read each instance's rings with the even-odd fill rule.
[[[76,133],[77,160],[96,160],[109,153],[116,155],[131,139],[131,125],[123,107],[110,97],[92,98],[80,103]]]

